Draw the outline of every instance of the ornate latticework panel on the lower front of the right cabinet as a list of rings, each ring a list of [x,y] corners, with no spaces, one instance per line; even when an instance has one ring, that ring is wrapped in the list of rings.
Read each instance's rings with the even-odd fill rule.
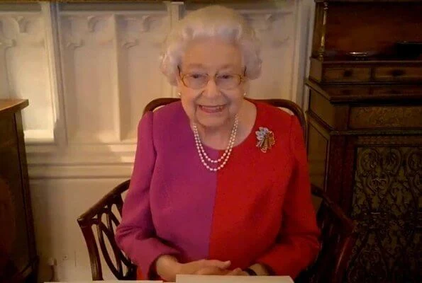
[[[356,154],[351,216],[359,236],[347,281],[420,282],[422,146],[360,146]]]

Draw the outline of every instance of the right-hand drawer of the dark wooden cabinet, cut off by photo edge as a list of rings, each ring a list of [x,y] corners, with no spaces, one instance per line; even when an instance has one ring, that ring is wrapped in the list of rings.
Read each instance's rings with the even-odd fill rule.
[[[422,67],[378,67],[375,81],[422,81]]]

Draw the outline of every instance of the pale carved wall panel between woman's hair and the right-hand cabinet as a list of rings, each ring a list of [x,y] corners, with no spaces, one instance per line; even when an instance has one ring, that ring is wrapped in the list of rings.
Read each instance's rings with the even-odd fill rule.
[[[229,1],[230,2],[230,1]],[[262,74],[251,81],[248,96],[251,98],[287,98],[296,96],[293,83],[297,76],[295,65],[296,23],[298,21],[295,1],[277,1],[272,8],[252,8],[248,3],[227,3],[245,16],[255,30],[261,45]],[[189,13],[206,4],[187,4]]]

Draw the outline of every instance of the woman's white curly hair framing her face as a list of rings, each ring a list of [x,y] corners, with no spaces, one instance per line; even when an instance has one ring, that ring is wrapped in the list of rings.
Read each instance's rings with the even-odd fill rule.
[[[177,85],[178,67],[191,40],[220,37],[240,47],[248,79],[261,73],[260,42],[246,19],[231,8],[207,6],[189,13],[172,28],[160,55],[160,69],[172,85]]]

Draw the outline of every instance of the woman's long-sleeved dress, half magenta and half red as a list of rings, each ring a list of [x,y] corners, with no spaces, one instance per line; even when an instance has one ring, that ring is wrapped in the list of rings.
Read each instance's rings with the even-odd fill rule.
[[[165,254],[180,262],[231,260],[233,269],[262,263],[293,278],[316,258],[319,230],[301,126],[287,112],[254,103],[252,132],[217,172],[201,163],[180,102],[140,120],[116,241],[145,279],[153,279],[154,262]],[[256,146],[259,127],[274,132],[266,153]],[[223,154],[205,150],[213,159]]]

